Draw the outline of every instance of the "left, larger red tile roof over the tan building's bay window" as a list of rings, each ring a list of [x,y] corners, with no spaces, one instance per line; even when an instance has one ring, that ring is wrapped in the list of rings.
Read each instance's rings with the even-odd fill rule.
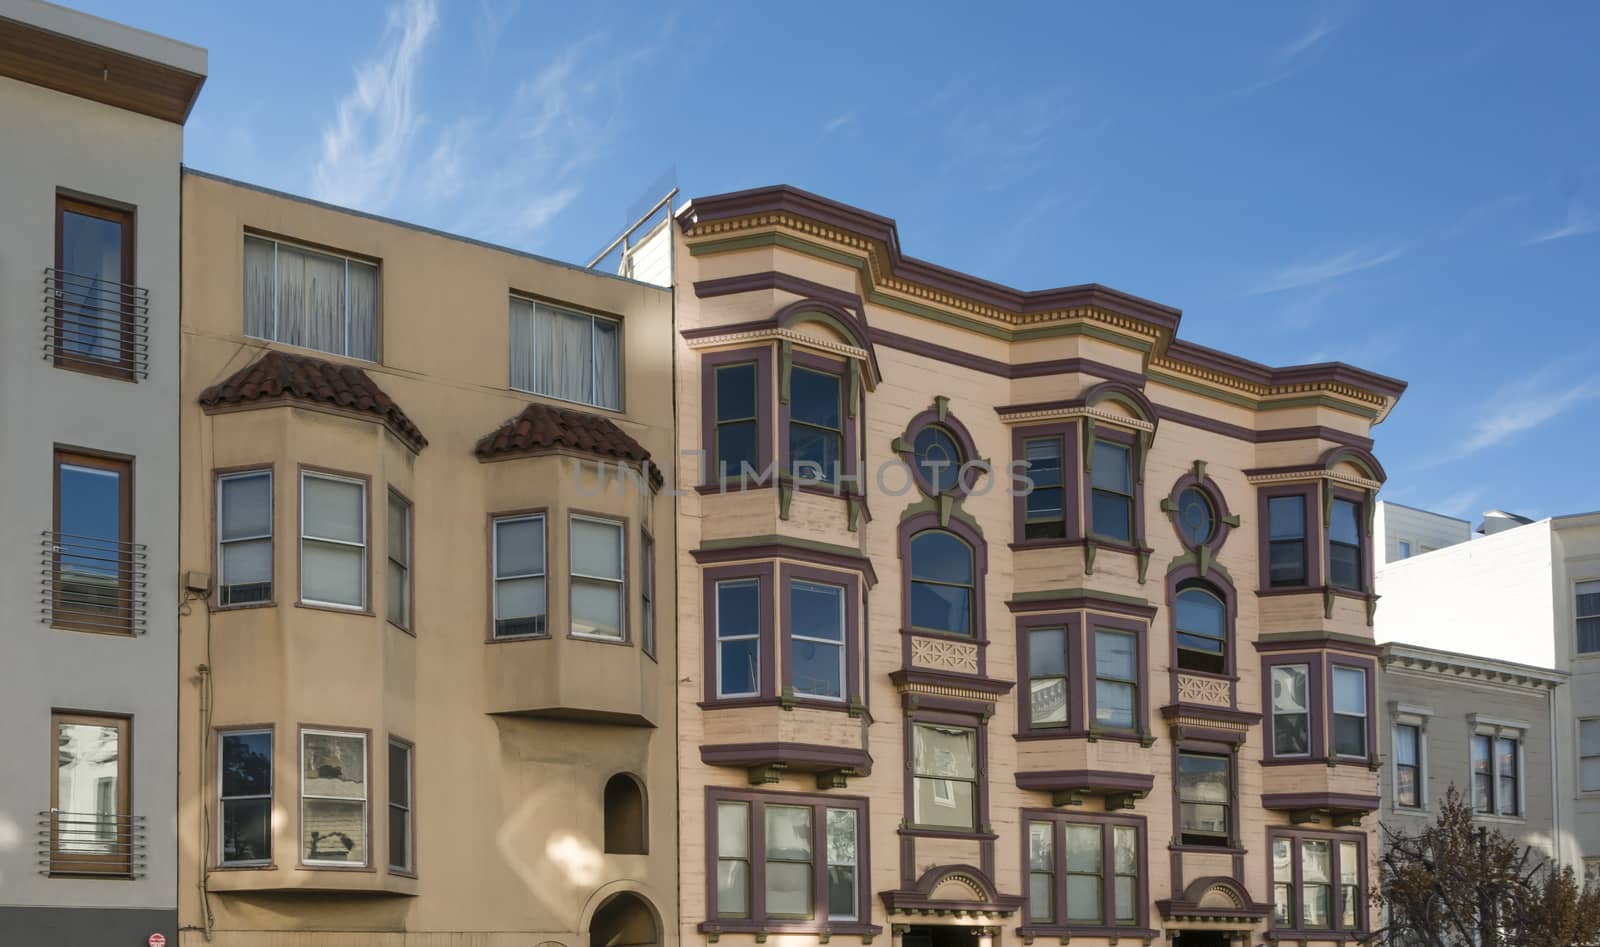
[[[394,398],[354,365],[274,349],[226,381],[200,392],[200,405],[205,408],[280,398],[299,398],[358,414],[371,414],[413,451],[427,446],[427,438],[406,418],[400,405],[395,405]]]

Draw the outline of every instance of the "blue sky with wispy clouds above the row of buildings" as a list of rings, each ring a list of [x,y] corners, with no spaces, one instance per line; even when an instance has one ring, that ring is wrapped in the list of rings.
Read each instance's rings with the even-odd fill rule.
[[[210,50],[200,170],[579,262],[789,182],[1406,379],[1389,499],[1600,509],[1600,5],[72,2]]]

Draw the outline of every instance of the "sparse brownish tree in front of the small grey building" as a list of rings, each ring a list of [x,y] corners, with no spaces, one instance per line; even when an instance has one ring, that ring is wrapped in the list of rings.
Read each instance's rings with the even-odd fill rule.
[[[1570,867],[1472,822],[1451,785],[1432,825],[1384,827],[1381,936],[1408,947],[1576,947],[1600,944],[1600,889]],[[1376,937],[1374,937],[1376,939]]]

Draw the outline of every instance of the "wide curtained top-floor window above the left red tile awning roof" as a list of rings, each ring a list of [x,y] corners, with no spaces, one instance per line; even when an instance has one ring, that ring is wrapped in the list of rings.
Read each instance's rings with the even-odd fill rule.
[[[378,360],[378,264],[245,237],[245,334]]]

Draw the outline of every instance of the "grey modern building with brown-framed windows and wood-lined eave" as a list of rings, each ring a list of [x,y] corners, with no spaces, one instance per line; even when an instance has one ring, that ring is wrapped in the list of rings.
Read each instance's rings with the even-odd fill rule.
[[[176,942],[178,258],[203,50],[0,0],[0,941]]]

